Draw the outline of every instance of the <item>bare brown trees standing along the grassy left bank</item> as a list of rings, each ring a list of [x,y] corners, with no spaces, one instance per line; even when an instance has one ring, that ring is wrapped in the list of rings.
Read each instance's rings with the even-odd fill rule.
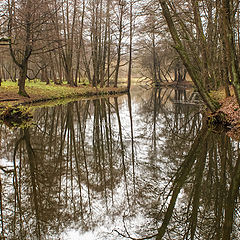
[[[1,78],[18,78],[19,93],[27,96],[25,80],[77,86],[118,85],[121,67],[129,62],[132,1],[21,0],[1,4]],[[131,20],[132,21],[132,20]],[[13,64],[14,63],[14,64]],[[131,75],[129,74],[129,79]]]

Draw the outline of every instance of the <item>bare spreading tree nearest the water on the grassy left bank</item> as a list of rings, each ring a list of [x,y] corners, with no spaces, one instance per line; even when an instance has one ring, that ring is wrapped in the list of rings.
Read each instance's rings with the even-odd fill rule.
[[[29,58],[34,51],[37,53],[39,48],[45,49],[50,43],[42,44],[44,31],[49,31],[46,26],[52,14],[51,8],[48,0],[8,0],[7,12],[10,54],[20,72],[18,93],[29,97],[25,90]]]

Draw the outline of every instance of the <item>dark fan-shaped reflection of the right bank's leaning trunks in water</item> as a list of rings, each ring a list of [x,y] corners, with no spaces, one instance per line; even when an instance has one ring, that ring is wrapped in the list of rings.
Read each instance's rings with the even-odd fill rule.
[[[184,162],[174,175],[174,179],[169,181],[169,183],[172,181],[173,183],[169,189],[169,193],[164,197],[165,200],[162,209],[159,211],[159,214],[162,214],[164,205],[168,203],[161,226],[158,228],[157,240],[163,239],[167,232],[169,239],[172,239],[171,235],[177,234],[177,225],[170,230],[171,224],[181,225],[180,222],[183,222],[183,219],[185,219],[184,223],[188,224],[187,228],[183,226],[179,227],[179,231],[181,232],[179,232],[179,234],[184,233],[184,239],[194,239],[196,233],[203,236],[203,239],[205,239],[204,235],[206,235],[206,239],[209,238],[209,236],[212,236],[211,238],[214,239],[224,240],[230,239],[231,236],[233,237],[233,216],[236,211],[236,200],[240,186],[240,157],[238,154],[235,167],[233,167],[232,178],[228,184],[226,179],[226,163],[228,156],[233,157],[231,154],[232,150],[230,149],[231,145],[226,137],[221,137],[219,139],[220,141],[217,139],[216,135],[210,135],[210,131],[207,130],[206,125],[204,125],[192,144]],[[220,154],[219,162],[218,151]],[[218,164],[220,164],[221,167],[220,172],[218,172]],[[206,166],[209,167],[208,173],[205,173]],[[229,168],[231,168],[231,166],[229,166]],[[209,177],[212,179],[209,179]],[[188,178],[189,180],[187,181]],[[215,183],[213,182],[214,179],[216,181]],[[174,209],[178,209],[177,206],[175,206],[176,200],[184,184],[185,194],[183,192],[182,194],[185,195],[184,200],[188,199],[189,201],[188,204],[184,203],[184,206],[187,207],[187,215],[184,215],[183,210],[180,210],[180,216],[177,214],[178,210],[176,214],[173,215]],[[228,185],[229,190],[227,191]],[[165,195],[165,193],[162,194]],[[214,200],[213,203],[215,204],[213,209],[211,209],[212,200]],[[180,209],[183,209],[183,207],[181,206]],[[210,212],[208,212],[209,210]],[[223,213],[225,213],[225,216]],[[156,218],[159,221],[159,217]],[[170,223],[171,218],[172,221]],[[208,226],[209,221],[213,223],[213,226]],[[167,229],[169,229],[169,231]],[[183,229],[184,232],[182,232]],[[176,239],[176,237],[173,239]]]

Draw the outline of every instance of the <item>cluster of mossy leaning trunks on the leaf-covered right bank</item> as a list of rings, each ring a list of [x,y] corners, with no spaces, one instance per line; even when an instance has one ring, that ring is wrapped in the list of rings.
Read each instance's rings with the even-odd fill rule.
[[[174,48],[204,102],[219,104],[208,94],[230,83],[240,103],[239,1],[159,1]]]

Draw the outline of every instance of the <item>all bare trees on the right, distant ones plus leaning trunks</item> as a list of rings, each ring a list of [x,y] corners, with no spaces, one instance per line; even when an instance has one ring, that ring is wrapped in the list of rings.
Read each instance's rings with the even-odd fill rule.
[[[181,81],[187,70],[212,111],[219,104],[209,92],[220,87],[229,96],[233,85],[239,103],[239,1],[157,0],[143,9],[141,59],[151,79]]]

